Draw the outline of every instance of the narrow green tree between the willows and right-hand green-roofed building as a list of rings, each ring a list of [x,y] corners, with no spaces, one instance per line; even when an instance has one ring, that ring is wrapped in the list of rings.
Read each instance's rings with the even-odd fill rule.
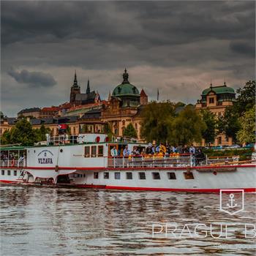
[[[206,129],[202,132],[202,137],[206,140],[206,143],[214,143],[217,134],[217,118],[214,113],[211,113],[208,109],[201,110],[200,113],[203,121],[206,123]]]

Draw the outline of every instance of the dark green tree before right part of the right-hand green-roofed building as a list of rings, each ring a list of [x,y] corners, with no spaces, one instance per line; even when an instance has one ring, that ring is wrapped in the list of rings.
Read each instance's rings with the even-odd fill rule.
[[[236,133],[240,129],[239,113],[233,106],[225,109],[224,116],[219,117],[218,120],[218,131],[226,135],[226,138],[232,137],[236,142]]]

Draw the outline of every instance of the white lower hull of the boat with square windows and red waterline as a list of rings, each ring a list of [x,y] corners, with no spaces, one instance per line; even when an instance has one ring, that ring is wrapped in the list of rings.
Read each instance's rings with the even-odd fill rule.
[[[22,184],[62,184],[102,189],[159,190],[185,192],[218,192],[219,189],[244,189],[256,192],[255,165],[227,165],[222,167],[151,167],[151,168],[105,168],[105,167],[26,167],[26,176],[20,178],[20,170],[2,167],[1,182]],[[14,176],[15,170],[17,175]],[[10,175],[8,175],[8,171]],[[108,175],[106,174],[108,173]],[[119,173],[119,174],[116,174]],[[127,178],[129,174],[129,179]],[[145,173],[140,179],[139,173]],[[156,173],[159,173],[156,175]],[[174,173],[170,179],[168,173]],[[190,173],[187,177],[186,173]],[[69,182],[59,183],[58,177],[68,177]],[[157,176],[157,177],[156,177]],[[187,177],[187,178],[186,178]],[[156,179],[157,178],[157,179]]]

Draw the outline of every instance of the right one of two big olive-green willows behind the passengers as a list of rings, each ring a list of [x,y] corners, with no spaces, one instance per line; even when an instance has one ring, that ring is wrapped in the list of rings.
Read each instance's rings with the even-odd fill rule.
[[[202,140],[206,123],[192,106],[187,106],[173,120],[168,141],[175,145],[188,145]]]

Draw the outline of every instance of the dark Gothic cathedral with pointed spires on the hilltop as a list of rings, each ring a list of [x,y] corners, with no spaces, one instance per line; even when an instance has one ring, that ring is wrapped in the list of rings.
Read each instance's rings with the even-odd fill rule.
[[[96,91],[91,91],[90,81],[87,81],[86,93],[81,94],[80,86],[78,86],[78,79],[75,72],[74,83],[70,89],[70,103],[71,105],[86,105],[100,102],[99,94]]]

